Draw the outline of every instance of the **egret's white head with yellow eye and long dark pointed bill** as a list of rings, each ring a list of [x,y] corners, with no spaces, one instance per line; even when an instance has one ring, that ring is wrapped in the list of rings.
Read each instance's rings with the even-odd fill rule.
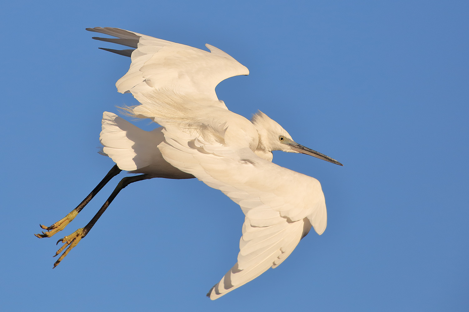
[[[283,151],[303,153],[342,166],[337,160],[296,143],[280,124],[276,123],[260,110],[257,114],[252,116],[251,121],[254,123],[259,133],[259,148],[266,152]]]

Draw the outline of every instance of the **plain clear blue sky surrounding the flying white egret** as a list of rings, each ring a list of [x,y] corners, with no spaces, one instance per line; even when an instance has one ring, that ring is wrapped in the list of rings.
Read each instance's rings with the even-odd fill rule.
[[[13,1],[0,10],[1,310],[468,311],[467,1]],[[113,166],[103,111],[129,59],[98,50],[110,26],[204,48],[250,69],[217,87],[300,144],[281,152],[317,178],[328,226],[280,267],[212,302],[236,261],[243,215],[200,181],[130,185],[52,269],[119,178],[52,239],[37,239]],[[151,129],[147,122],[140,127]],[[123,177],[122,173],[120,177]]]

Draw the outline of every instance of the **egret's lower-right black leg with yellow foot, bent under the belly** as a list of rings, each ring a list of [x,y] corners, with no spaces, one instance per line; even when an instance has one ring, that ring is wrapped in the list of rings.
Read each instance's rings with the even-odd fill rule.
[[[85,227],[76,230],[73,232],[71,235],[65,236],[63,239],[59,239],[57,241],[57,244],[59,242],[65,243],[57,252],[55,253],[54,257],[60,254],[65,248],[67,248],[64,253],[59,257],[57,261],[54,263],[54,268],[59,265],[60,261],[62,261],[63,258],[72,250],[73,247],[75,247],[78,242],[90,232],[91,228],[93,225],[98,221],[99,217],[106,211],[107,207],[109,206],[110,203],[112,203],[113,199],[119,194],[121,189],[125,188],[128,186],[130,183],[136,182],[136,181],[142,181],[146,179],[151,179],[150,176],[147,174],[141,174],[141,175],[136,175],[136,176],[130,176],[130,177],[125,177],[123,178],[116,186],[116,188],[113,190],[111,193],[111,196],[106,200],[106,202],[103,204],[101,209],[96,213],[96,215],[91,219],[91,221],[85,225]],[[68,247],[67,247],[68,246]]]

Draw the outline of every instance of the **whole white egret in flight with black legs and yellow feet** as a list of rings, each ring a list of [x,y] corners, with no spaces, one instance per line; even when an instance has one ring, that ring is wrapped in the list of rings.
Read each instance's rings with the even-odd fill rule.
[[[85,227],[60,241],[63,254],[54,268],[91,230],[115,196],[132,182],[151,178],[196,177],[219,189],[241,206],[245,215],[237,263],[207,296],[216,299],[277,267],[295,249],[311,226],[326,227],[324,194],[319,181],[272,163],[272,151],[304,153],[342,165],[296,143],[278,123],[262,112],[251,121],[227,109],[215,87],[248,69],[227,53],[206,44],[204,51],[118,28],[89,28],[116,38],[93,39],[129,46],[111,51],[131,58],[117,90],[131,93],[140,105],[130,115],[150,118],[161,128],[144,131],[123,118],[104,112],[100,142],[116,165],[82,203],[47,227],[39,238],[51,237],[70,221],[121,170],[124,177]]]

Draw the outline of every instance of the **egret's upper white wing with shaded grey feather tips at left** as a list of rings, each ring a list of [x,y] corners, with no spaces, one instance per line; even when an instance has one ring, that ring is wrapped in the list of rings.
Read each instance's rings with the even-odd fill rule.
[[[134,96],[144,93],[149,96],[149,93],[171,90],[175,94],[218,102],[215,87],[222,80],[249,74],[245,66],[210,44],[205,44],[211,51],[208,52],[119,28],[95,27],[87,30],[118,38],[93,39],[134,48],[104,49],[132,59],[129,71],[116,83],[121,93],[130,92]],[[223,102],[220,106],[226,108]]]

